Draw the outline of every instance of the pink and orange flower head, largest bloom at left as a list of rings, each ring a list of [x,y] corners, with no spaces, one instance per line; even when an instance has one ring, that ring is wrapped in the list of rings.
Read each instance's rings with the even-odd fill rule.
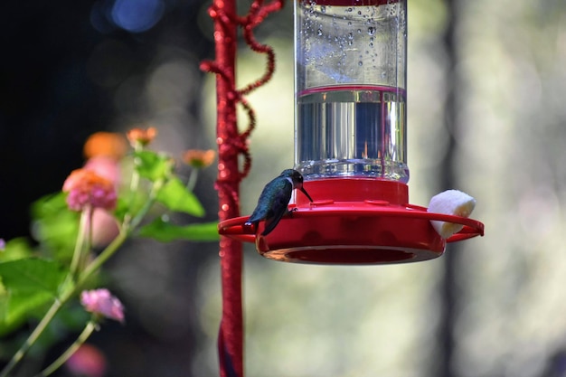
[[[87,206],[105,210],[116,207],[114,184],[89,169],[74,170],[65,180],[63,192],[69,193],[67,204],[73,211],[82,211]]]

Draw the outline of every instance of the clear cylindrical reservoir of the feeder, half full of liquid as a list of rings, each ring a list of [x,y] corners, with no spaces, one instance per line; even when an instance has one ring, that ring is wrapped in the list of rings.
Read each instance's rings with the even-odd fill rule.
[[[296,0],[295,168],[409,180],[406,0]]]

